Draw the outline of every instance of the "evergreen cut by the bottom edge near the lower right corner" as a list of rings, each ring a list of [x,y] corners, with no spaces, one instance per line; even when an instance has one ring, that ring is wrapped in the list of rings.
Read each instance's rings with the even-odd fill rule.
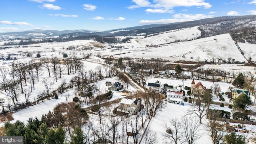
[[[231,132],[225,136],[227,144],[245,144],[245,136]]]

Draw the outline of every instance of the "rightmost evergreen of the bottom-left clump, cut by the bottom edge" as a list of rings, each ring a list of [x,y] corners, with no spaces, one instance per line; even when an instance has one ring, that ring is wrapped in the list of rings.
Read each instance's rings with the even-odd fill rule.
[[[71,144],[86,144],[86,137],[84,136],[84,132],[80,127],[74,128],[74,134],[71,138]]]

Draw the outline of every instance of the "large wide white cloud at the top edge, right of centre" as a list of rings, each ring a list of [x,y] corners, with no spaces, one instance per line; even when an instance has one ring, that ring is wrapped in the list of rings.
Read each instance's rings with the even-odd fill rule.
[[[197,6],[198,8],[211,8],[212,5],[204,0],[154,0],[154,3],[148,0],[132,0],[136,5],[131,5],[128,9],[151,7],[155,9],[172,9],[174,7],[190,7]]]

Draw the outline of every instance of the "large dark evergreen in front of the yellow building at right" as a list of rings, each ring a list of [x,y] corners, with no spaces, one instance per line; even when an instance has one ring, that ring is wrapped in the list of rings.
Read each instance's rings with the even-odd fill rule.
[[[244,110],[248,105],[252,104],[251,98],[247,94],[242,93],[234,100],[234,108],[241,108]]]

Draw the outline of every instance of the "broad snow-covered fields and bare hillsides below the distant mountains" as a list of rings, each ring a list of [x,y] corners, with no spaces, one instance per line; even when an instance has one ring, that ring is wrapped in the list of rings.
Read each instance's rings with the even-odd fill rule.
[[[154,34],[152,34],[154,35]],[[238,50],[235,42],[229,34],[221,34],[208,38],[200,38],[200,30],[196,27],[181,30],[172,30],[155,34],[141,39],[131,39],[129,42],[117,44],[128,49],[111,50],[108,44],[101,44],[93,40],[74,40],[70,42],[32,44],[20,48],[8,48],[1,50],[1,54],[16,54],[16,58],[22,58],[27,53],[36,56],[40,53],[41,57],[63,57],[63,53],[68,55],[75,54],[84,57],[86,54],[97,54],[103,56],[130,57],[130,58],[163,58],[167,60],[190,60],[190,61],[210,61],[212,58],[227,60],[228,57],[235,61],[245,62],[246,59]],[[180,42],[175,42],[178,41]],[[187,41],[189,40],[189,41]],[[251,56],[254,60],[256,44],[238,43],[245,57]],[[37,47],[39,46],[39,47]],[[67,48],[74,47],[72,50]],[[83,48],[93,48],[84,50]],[[14,56],[11,56],[14,58]]]

